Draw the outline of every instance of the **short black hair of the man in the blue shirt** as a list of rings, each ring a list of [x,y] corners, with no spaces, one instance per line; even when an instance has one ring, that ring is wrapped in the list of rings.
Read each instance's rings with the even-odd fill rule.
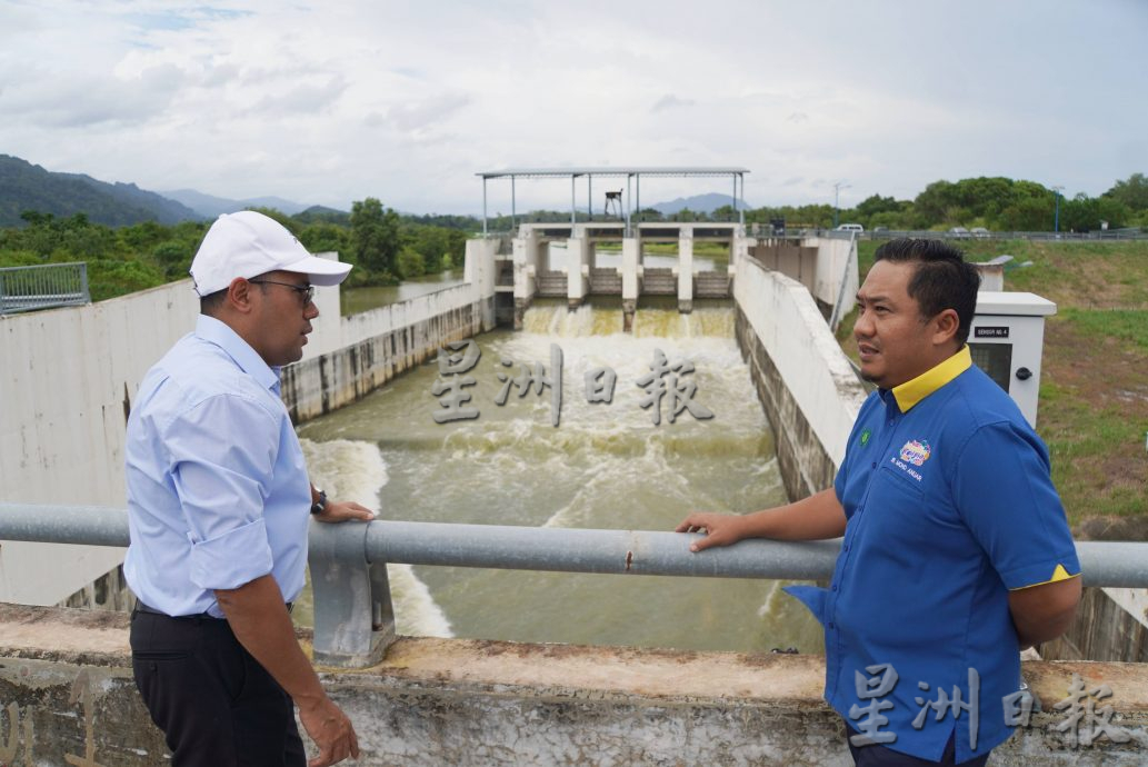
[[[977,310],[980,273],[959,248],[943,240],[898,238],[877,248],[874,262],[877,261],[916,263],[908,293],[917,302],[921,317],[930,319],[953,309],[960,320],[956,340],[964,344]]]

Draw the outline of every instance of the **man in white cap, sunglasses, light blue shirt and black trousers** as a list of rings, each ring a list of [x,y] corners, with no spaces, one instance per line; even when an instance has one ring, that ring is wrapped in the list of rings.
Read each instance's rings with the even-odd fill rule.
[[[254,211],[220,216],[192,278],[195,331],[148,371],[127,421],[131,545],[124,574],[135,684],[173,765],[311,767],[358,757],[350,720],[295,640],[308,520],[370,520],[310,483],[279,395],[319,315],[315,286],[349,264],[317,258]],[[310,514],[308,513],[310,509]]]

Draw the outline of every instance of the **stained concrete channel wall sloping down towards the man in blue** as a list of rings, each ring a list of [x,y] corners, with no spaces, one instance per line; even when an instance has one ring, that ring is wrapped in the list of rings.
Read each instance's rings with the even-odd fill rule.
[[[866,392],[809,292],[753,258],[734,278],[736,333],[776,435],[790,498],[832,485]]]

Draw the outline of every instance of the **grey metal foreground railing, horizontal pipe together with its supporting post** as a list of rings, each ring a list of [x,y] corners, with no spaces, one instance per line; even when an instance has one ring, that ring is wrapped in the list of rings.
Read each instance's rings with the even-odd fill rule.
[[[311,522],[315,659],[358,668],[395,638],[386,564],[619,575],[828,580],[839,541],[752,540],[693,553],[695,535],[375,520]],[[0,503],[0,541],[126,547],[127,512]],[[1148,543],[1077,543],[1084,584],[1148,587]]]

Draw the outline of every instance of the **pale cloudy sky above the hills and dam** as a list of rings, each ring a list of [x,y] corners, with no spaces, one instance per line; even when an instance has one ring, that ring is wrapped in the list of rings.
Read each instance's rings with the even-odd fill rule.
[[[511,166],[744,166],[751,206],[974,176],[1096,195],[1148,172],[1146,32],[1148,0],[0,0],[0,154],[412,212],[479,212],[474,173]]]

